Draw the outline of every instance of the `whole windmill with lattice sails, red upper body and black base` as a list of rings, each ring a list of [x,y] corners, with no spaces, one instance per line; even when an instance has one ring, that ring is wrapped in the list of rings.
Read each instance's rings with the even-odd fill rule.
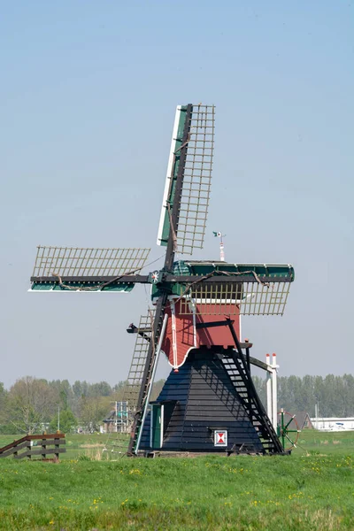
[[[158,227],[162,268],[142,274],[149,249],[38,247],[32,291],[130,291],[150,284],[125,400],[134,409],[128,453],[139,450],[282,453],[254,387],[242,315],[282,315],[294,269],[223,260],[175,260],[203,248],[212,181],[213,105],[177,107]],[[150,402],[158,357],[172,370]]]

